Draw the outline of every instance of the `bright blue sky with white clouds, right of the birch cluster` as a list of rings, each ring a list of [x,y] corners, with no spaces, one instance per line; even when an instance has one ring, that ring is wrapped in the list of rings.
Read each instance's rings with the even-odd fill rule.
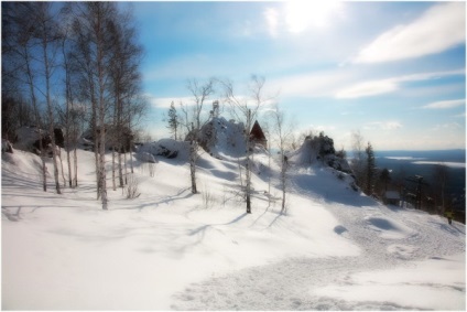
[[[148,130],[167,137],[186,80],[251,74],[294,121],[350,149],[465,149],[464,2],[132,2]],[[221,97],[220,88],[211,99]],[[209,101],[208,101],[209,103]]]

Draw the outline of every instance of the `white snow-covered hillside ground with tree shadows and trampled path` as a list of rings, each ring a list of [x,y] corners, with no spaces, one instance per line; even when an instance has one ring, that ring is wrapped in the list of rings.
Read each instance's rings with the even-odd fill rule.
[[[134,159],[141,195],[110,187],[101,211],[94,154],[78,155],[62,195],[42,192],[37,157],[2,155],[3,310],[466,309],[465,226],[383,206],[329,168],[291,170],[283,215],[279,168],[254,155],[246,214],[235,158],[200,157],[199,194],[183,160],[152,177]]]

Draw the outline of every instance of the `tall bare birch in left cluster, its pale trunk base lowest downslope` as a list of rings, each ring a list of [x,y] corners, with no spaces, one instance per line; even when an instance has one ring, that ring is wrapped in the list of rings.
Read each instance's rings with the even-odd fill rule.
[[[91,129],[95,140],[98,198],[108,208],[106,180],[106,121],[110,103],[110,56],[112,42],[109,25],[117,19],[113,2],[76,3],[74,36],[75,57],[80,61],[87,99],[91,104]]]

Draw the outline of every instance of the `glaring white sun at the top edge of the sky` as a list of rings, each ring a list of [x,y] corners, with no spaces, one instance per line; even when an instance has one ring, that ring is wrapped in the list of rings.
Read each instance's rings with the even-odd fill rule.
[[[338,13],[339,1],[289,1],[285,3],[285,22],[292,33],[302,33],[309,28],[327,28]]]

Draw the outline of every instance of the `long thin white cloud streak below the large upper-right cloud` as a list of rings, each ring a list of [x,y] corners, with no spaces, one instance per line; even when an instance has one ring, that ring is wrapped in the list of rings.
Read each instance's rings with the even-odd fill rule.
[[[347,88],[339,89],[336,98],[358,98],[366,96],[374,96],[387,93],[392,93],[400,89],[401,84],[406,82],[422,82],[427,79],[437,79],[446,76],[465,75],[465,69],[421,73],[413,75],[404,75],[400,77],[392,77],[387,79],[368,80],[352,85]]]

